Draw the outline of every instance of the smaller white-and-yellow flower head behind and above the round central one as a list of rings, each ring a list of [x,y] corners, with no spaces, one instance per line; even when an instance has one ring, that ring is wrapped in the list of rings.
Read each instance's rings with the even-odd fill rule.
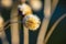
[[[29,4],[26,4],[26,3],[20,4],[20,6],[19,6],[19,9],[20,9],[20,11],[22,11],[22,13],[23,13],[24,15],[32,14],[32,9],[31,9],[31,7],[30,7]]]

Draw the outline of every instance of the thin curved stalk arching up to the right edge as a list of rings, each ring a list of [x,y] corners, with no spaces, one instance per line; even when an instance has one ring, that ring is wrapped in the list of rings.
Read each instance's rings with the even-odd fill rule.
[[[48,31],[46,38],[45,38],[45,43],[47,43],[48,38],[51,37],[51,35],[53,34],[55,28],[57,26],[57,24],[64,19],[66,18],[66,14],[62,15],[51,28],[51,30]]]

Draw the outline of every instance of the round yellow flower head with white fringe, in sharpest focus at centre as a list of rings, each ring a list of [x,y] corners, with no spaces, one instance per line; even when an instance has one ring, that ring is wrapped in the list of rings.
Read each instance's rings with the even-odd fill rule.
[[[23,23],[28,29],[35,31],[38,29],[41,21],[36,15],[30,14],[24,16]]]

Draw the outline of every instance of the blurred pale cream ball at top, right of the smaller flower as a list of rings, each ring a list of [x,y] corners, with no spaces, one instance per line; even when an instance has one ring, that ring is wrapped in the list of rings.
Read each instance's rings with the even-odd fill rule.
[[[40,11],[42,9],[42,1],[41,0],[31,0],[30,4],[34,11]]]

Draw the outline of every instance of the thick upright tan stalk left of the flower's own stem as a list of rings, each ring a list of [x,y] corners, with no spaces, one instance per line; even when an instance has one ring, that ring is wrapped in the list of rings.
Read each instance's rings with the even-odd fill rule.
[[[12,38],[12,44],[20,44],[20,36],[19,36],[19,23],[13,23],[12,22],[18,22],[19,18],[12,18],[12,16],[18,15],[18,2],[14,3],[12,12],[11,12],[11,38]]]

